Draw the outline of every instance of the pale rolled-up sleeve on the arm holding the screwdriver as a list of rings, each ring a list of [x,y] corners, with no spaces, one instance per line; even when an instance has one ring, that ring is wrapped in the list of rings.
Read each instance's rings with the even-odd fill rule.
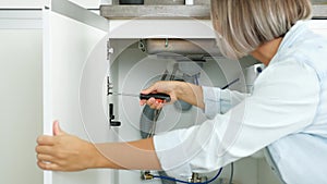
[[[208,119],[214,119],[217,113],[226,113],[249,96],[249,94],[218,87],[203,86],[202,89],[205,103],[204,112]]]

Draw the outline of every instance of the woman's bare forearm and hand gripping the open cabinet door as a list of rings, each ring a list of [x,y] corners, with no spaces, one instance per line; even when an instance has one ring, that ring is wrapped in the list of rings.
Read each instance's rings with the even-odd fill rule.
[[[93,168],[160,170],[153,138],[131,143],[92,144],[60,130],[37,139],[37,164],[44,170],[81,171]]]

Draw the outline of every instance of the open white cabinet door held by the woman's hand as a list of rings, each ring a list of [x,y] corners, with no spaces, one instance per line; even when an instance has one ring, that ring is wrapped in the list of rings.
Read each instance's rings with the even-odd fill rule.
[[[106,82],[108,22],[65,0],[44,10],[44,133],[52,122],[89,142],[110,142]],[[110,184],[110,170],[44,173],[45,184]]]

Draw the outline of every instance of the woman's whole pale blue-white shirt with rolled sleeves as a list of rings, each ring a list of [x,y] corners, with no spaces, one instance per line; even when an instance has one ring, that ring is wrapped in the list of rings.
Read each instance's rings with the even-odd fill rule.
[[[173,176],[218,170],[268,146],[284,183],[326,183],[327,40],[298,22],[251,95],[203,87],[209,120],[154,137]]]

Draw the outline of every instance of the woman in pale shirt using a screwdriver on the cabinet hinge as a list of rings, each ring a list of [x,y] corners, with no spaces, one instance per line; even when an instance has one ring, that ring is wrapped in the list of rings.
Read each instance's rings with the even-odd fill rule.
[[[221,52],[231,59],[252,54],[267,66],[252,95],[158,82],[142,93],[166,93],[172,102],[197,106],[211,120],[148,139],[95,145],[62,132],[55,122],[55,136],[37,139],[39,168],[187,175],[217,170],[267,147],[284,183],[325,183],[327,41],[306,27],[311,8],[308,0],[211,0]],[[155,99],[141,103],[164,106]]]

